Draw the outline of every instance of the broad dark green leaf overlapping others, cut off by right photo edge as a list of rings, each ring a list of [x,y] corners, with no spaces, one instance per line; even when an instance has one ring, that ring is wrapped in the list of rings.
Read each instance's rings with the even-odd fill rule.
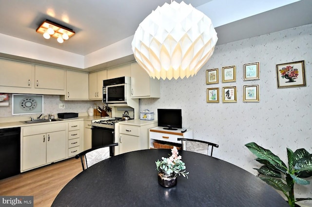
[[[312,154],[299,159],[294,165],[294,169],[297,171],[297,177],[308,178],[312,176]]]

